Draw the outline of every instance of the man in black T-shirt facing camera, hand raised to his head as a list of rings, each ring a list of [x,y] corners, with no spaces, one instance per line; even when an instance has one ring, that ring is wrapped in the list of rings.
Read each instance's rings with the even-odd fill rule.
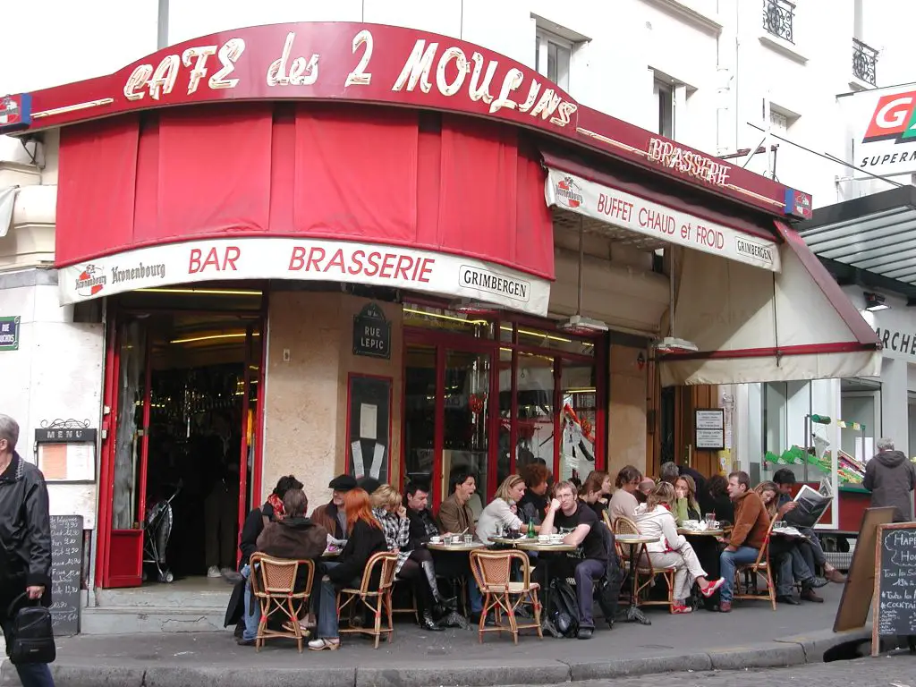
[[[552,534],[559,528],[573,530],[563,538],[563,543],[581,547],[580,557],[573,559],[570,556],[567,562],[575,566],[572,577],[575,579],[579,604],[579,638],[591,639],[594,633],[594,581],[605,576],[608,553],[601,529],[604,526],[598,521],[594,510],[579,500],[576,491],[570,482],[561,482],[556,486],[540,531]]]

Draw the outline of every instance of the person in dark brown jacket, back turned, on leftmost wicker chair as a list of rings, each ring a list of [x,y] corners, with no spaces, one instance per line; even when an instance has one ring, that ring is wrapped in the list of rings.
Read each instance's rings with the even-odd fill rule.
[[[274,558],[288,560],[320,561],[327,546],[328,530],[305,517],[309,499],[301,489],[289,489],[283,496],[283,515],[268,522],[257,538],[257,551]],[[304,573],[304,570],[300,571]],[[251,574],[257,574],[252,571]],[[297,580],[297,585],[304,580]],[[251,646],[255,643],[261,608],[252,604],[251,584],[245,586],[245,632],[238,643]]]

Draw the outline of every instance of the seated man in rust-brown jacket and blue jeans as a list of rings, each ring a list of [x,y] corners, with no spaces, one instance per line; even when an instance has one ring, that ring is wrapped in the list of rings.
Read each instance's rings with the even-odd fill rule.
[[[735,525],[728,546],[719,557],[720,574],[725,580],[719,590],[722,598],[719,610],[723,613],[732,610],[736,566],[757,561],[769,529],[769,513],[760,496],[751,491],[747,473],[728,475],[728,496],[735,504]]]

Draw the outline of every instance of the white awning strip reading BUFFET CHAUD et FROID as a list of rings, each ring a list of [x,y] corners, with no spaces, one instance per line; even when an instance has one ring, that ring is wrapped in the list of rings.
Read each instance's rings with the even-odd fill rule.
[[[695,248],[773,272],[780,271],[780,251],[772,241],[559,169],[549,169],[545,195],[548,205],[556,205],[563,210],[671,244]]]

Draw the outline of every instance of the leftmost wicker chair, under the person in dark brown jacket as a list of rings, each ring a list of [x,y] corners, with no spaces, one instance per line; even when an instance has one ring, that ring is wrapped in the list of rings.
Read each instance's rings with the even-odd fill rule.
[[[307,572],[305,586],[296,591],[296,580],[302,568]],[[251,591],[261,606],[261,621],[257,625],[255,638],[256,650],[260,651],[268,638],[289,638],[296,640],[301,653],[305,634],[299,618],[303,609],[309,606],[315,564],[311,561],[287,561],[263,553],[253,553],[251,571]],[[282,616],[286,622],[281,623],[280,629],[268,628],[269,620],[277,615]]]

